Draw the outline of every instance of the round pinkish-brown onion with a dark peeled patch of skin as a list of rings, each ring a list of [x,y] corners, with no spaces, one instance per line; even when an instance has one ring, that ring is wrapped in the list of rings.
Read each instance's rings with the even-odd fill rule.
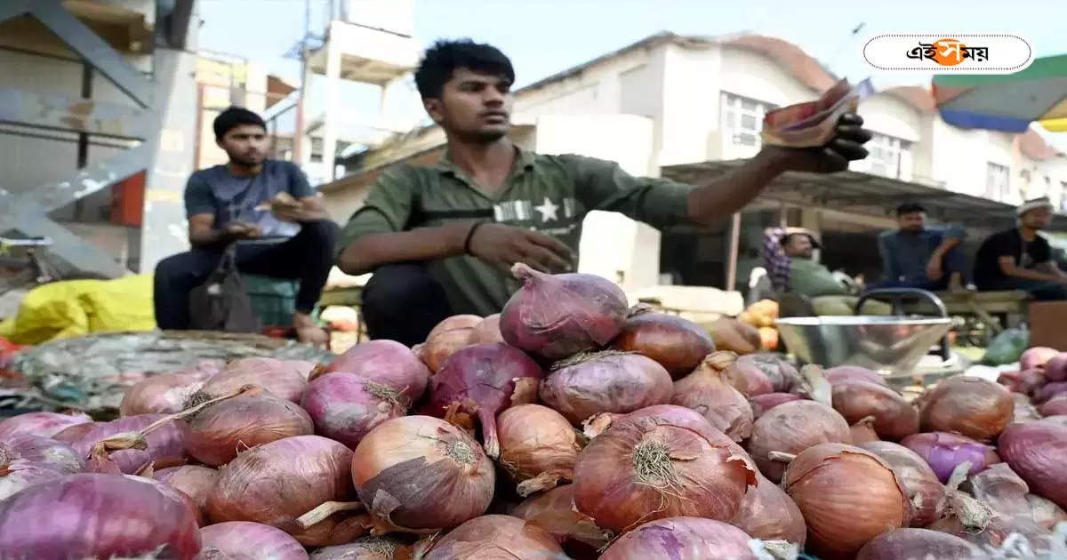
[[[463,430],[430,416],[386,420],[352,454],[352,481],[376,530],[439,530],[481,515],[496,475]]]

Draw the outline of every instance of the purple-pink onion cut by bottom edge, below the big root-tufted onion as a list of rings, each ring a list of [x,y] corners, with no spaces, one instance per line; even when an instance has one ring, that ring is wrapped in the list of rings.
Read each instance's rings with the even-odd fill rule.
[[[601,560],[755,560],[745,531],[714,519],[670,517],[646,523],[620,537]]]

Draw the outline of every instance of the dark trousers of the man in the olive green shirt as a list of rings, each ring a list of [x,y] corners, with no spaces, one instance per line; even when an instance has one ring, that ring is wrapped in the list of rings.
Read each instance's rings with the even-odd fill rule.
[[[409,347],[452,315],[444,288],[419,262],[379,267],[363,288],[362,310],[370,338]]]

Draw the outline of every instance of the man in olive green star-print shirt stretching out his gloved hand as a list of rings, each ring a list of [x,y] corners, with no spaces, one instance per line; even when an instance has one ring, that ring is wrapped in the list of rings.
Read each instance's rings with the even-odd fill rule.
[[[784,171],[833,173],[866,156],[871,133],[846,114],[824,147],[765,146],[728,177],[695,188],[634,177],[615,162],[519,149],[508,138],[514,82],[499,50],[439,42],[415,73],[427,113],[444,129],[434,167],[387,170],[341,231],[337,265],[373,272],[363,291],[371,338],[414,345],[449,315],[498,313],[519,287],[514,262],[576,267],[582,221],[622,212],[653,227],[707,224],[740,210]]]

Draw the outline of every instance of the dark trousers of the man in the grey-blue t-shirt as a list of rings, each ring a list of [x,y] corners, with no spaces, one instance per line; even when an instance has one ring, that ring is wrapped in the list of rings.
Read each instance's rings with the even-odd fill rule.
[[[298,279],[297,310],[309,314],[333,267],[340,228],[332,221],[306,222],[282,243],[237,245],[237,269],[249,274]],[[204,284],[219,266],[221,250],[193,249],[156,265],[156,324],[163,330],[189,329],[189,292]]]

